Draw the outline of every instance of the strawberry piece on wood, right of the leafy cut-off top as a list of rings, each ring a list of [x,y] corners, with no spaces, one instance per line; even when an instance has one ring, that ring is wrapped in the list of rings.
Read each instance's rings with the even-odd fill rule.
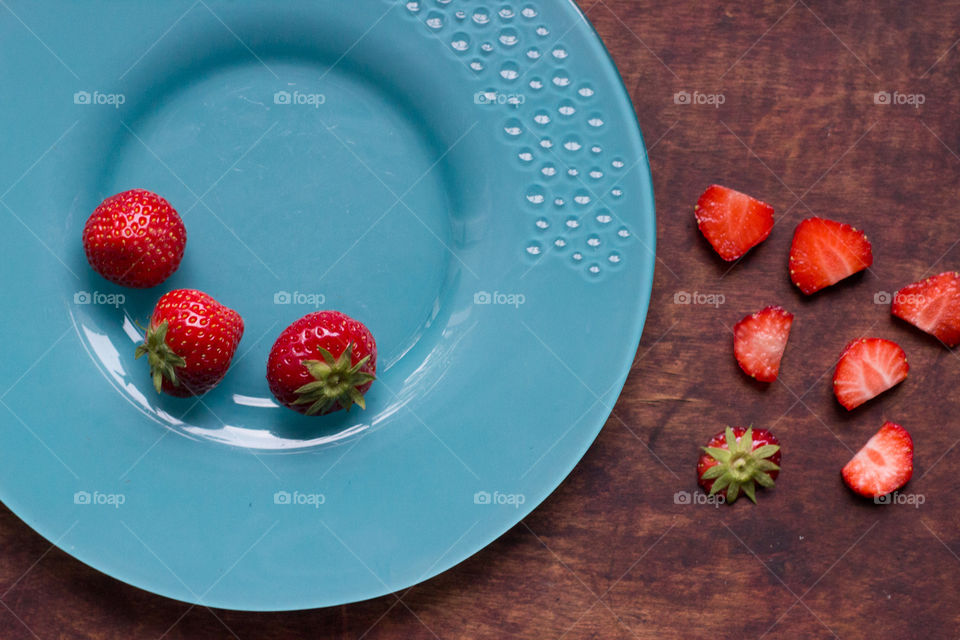
[[[841,474],[848,487],[867,498],[896,491],[913,475],[913,439],[897,423],[886,422]]]

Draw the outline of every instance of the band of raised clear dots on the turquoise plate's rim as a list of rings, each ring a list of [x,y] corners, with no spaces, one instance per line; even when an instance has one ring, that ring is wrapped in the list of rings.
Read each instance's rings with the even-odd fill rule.
[[[607,122],[596,87],[573,71],[574,53],[533,4],[464,0],[402,4],[423,30],[476,78],[476,108],[499,109],[499,136],[529,172],[518,194],[529,214],[523,253],[559,256],[589,278],[623,265],[630,230],[622,223],[628,170],[605,148]],[[558,37],[559,36],[559,37]]]

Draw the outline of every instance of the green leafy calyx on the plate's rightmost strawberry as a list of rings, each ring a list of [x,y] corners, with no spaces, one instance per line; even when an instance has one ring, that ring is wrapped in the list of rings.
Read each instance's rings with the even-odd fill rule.
[[[353,364],[352,342],[339,358],[334,358],[323,347],[317,349],[323,360],[304,360],[301,363],[313,376],[313,382],[308,382],[296,390],[298,398],[294,404],[309,404],[306,411],[308,416],[325,413],[337,403],[347,411],[350,411],[354,404],[366,409],[363,394],[357,387],[376,380],[373,374],[360,370],[370,360],[370,356],[365,356],[357,364]]]

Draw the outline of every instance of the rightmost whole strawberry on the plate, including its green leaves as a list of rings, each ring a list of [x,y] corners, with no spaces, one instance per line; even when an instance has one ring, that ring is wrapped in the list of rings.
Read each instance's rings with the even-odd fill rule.
[[[280,404],[323,415],[354,404],[376,379],[377,343],[363,323],[339,311],[307,314],[270,349],[267,382]]]

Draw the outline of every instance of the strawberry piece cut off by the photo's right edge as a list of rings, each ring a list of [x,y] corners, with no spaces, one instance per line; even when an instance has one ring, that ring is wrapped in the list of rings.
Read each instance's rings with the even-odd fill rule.
[[[945,271],[908,284],[893,296],[891,311],[948,347],[956,346],[960,343],[960,274]]]

